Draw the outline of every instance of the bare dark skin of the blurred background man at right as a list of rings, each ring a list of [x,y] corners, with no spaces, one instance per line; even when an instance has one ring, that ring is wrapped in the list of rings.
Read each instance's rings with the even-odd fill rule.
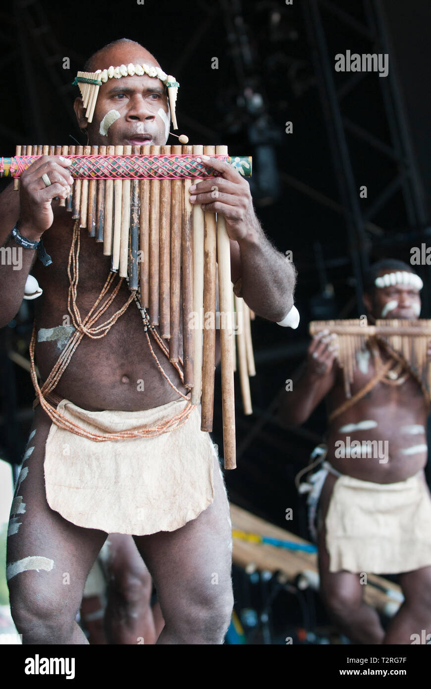
[[[379,275],[389,272],[390,269],[386,269]],[[364,296],[364,302],[371,322],[382,317],[416,319],[421,307],[419,291],[410,285],[375,289],[372,295]],[[382,316],[383,309],[387,309],[391,302],[397,302],[397,307]],[[379,351],[381,359],[386,362],[386,351],[383,347],[379,347]],[[429,350],[428,356],[430,354]],[[366,364],[364,360],[362,371],[358,364],[359,362],[351,387],[352,395],[375,375],[372,356],[369,356]],[[302,424],[324,398],[328,413],[337,409],[346,399],[341,370],[337,365],[337,349],[327,331],[313,338],[302,373],[293,382],[293,391],[286,394],[280,415],[289,424]],[[403,449],[410,446],[426,444],[427,415],[428,409],[419,384],[411,376],[399,387],[378,383],[362,400],[328,424],[327,460],[340,473],[361,480],[382,484],[406,480],[423,472],[427,461],[425,451],[412,455],[402,453]],[[373,420],[377,422],[377,426],[362,431],[341,431],[346,424],[357,424],[363,420]],[[423,432],[406,435],[403,427],[413,425],[423,426]],[[388,461],[379,462],[370,457],[335,457],[335,442],[346,442],[347,435],[351,441],[388,440]],[[431,630],[431,567],[399,575],[406,600],[385,633],[374,608],[364,602],[364,586],[360,583],[359,575],[346,571],[329,571],[325,520],[336,480],[336,476],[328,474],[319,502],[317,545],[320,591],[328,612],[354,643],[410,644],[410,635],[417,628],[428,632]],[[423,480],[425,481],[424,477]]]

